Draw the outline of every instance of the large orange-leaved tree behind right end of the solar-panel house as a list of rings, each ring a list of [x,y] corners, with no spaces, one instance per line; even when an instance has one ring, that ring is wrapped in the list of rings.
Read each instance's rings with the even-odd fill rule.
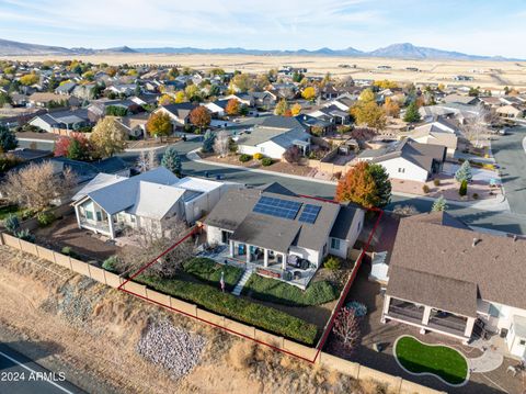
[[[340,179],[334,199],[364,207],[386,206],[391,200],[389,176],[382,166],[361,161]]]

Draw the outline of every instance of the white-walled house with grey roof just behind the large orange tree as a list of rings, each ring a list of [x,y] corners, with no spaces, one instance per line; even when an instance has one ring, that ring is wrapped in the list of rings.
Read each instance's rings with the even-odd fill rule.
[[[365,150],[357,159],[381,165],[389,178],[425,182],[442,171],[446,150],[443,145],[420,144],[405,138],[381,149]]]

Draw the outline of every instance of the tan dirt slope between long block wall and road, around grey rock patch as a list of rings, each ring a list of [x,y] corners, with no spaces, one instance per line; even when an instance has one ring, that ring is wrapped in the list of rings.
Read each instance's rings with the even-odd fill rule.
[[[9,247],[0,247],[0,340],[88,392],[378,392],[375,383],[359,386]],[[180,380],[137,352],[160,320],[205,339],[197,365]]]

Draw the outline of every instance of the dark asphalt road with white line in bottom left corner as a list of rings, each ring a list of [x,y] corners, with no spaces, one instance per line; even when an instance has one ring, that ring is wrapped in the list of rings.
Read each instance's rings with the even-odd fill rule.
[[[0,344],[0,393],[10,394],[77,394],[84,391]]]

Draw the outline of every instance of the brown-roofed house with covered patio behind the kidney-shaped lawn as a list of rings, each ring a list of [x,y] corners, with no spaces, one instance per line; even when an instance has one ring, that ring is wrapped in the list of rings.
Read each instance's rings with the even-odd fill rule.
[[[445,212],[402,218],[382,322],[468,342],[484,328],[526,357],[526,240],[471,230]]]

